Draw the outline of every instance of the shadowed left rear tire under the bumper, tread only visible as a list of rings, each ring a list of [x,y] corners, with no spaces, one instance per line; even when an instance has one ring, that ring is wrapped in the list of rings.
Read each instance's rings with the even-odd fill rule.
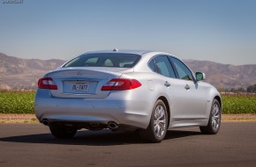
[[[56,138],[72,138],[78,131],[75,127],[67,127],[60,123],[49,124],[49,130]]]

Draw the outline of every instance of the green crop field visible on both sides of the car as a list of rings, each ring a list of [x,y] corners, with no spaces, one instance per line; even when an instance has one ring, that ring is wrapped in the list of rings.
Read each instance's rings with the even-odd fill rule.
[[[34,113],[34,91],[0,91],[0,113]],[[222,96],[223,113],[256,113],[256,97]]]

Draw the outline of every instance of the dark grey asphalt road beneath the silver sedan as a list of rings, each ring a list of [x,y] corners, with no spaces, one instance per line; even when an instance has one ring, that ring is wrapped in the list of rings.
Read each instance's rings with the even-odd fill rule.
[[[169,130],[157,144],[109,130],[57,140],[40,124],[0,124],[0,166],[256,166],[256,122],[222,123],[216,135]]]

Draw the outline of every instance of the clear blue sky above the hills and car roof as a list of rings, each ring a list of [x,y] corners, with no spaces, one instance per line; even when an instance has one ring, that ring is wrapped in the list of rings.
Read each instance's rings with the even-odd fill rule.
[[[69,60],[147,49],[182,59],[256,64],[255,0],[0,0],[0,52]]]

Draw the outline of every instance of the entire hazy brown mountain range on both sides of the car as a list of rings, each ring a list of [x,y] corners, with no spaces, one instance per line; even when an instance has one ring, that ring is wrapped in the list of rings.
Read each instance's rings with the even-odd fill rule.
[[[36,89],[38,79],[65,61],[20,59],[0,53],[0,90]],[[184,60],[193,70],[204,72],[206,81],[218,89],[244,88],[256,84],[256,64],[231,65],[209,61]]]

